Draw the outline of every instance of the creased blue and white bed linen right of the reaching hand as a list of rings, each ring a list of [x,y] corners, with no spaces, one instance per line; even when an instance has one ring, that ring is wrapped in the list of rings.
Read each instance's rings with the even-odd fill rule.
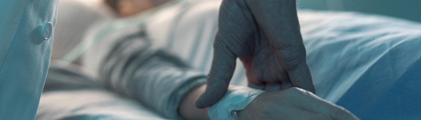
[[[420,23],[351,12],[299,14],[318,96],[362,120],[420,120]]]

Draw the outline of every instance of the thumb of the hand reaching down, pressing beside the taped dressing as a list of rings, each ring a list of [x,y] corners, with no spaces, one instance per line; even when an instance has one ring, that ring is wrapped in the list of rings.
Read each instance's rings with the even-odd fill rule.
[[[234,73],[236,56],[216,35],[213,44],[213,60],[205,91],[196,99],[197,108],[209,107],[224,97]]]

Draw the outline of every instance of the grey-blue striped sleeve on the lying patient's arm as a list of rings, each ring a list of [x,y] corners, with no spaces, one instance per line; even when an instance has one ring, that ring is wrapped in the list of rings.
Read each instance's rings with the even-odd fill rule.
[[[109,89],[137,99],[165,117],[181,119],[181,100],[192,88],[206,83],[206,73],[149,43],[141,34],[116,42],[99,68],[101,80]]]

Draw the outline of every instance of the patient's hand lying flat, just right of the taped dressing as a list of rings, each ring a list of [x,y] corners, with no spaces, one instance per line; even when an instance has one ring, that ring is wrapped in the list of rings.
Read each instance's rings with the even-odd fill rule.
[[[296,87],[265,92],[238,112],[239,120],[359,120],[355,115]]]

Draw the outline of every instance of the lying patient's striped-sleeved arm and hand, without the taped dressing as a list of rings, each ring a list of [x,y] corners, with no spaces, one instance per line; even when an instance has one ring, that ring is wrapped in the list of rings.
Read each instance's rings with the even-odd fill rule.
[[[187,120],[209,119],[207,109],[198,110],[194,105],[194,100],[204,91],[206,74],[189,68],[177,57],[151,48],[141,37],[129,38],[117,42],[101,63],[104,83],[168,118],[181,119],[182,115]],[[240,120],[356,120],[343,108],[298,88],[261,94],[239,111],[239,117]]]

